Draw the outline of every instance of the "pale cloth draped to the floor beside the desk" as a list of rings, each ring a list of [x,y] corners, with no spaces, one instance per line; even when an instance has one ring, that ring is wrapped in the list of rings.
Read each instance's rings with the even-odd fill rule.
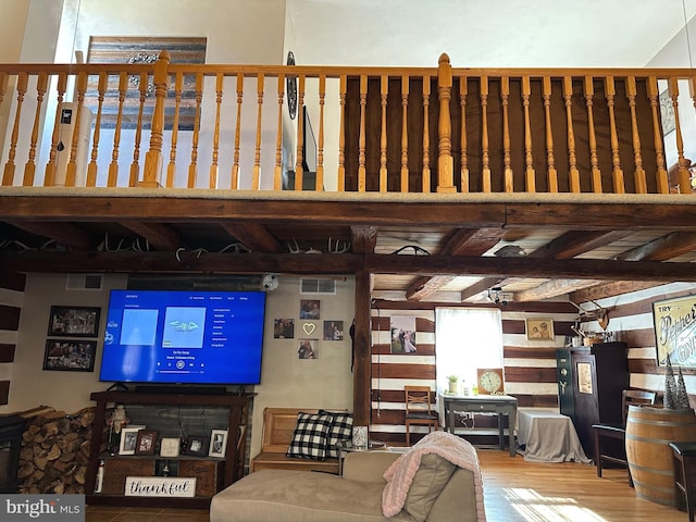
[[[518,422],[518,443],[524,446],[524,460],[592,462],[580,444],[570,417],[550,410],[520,408]]]

